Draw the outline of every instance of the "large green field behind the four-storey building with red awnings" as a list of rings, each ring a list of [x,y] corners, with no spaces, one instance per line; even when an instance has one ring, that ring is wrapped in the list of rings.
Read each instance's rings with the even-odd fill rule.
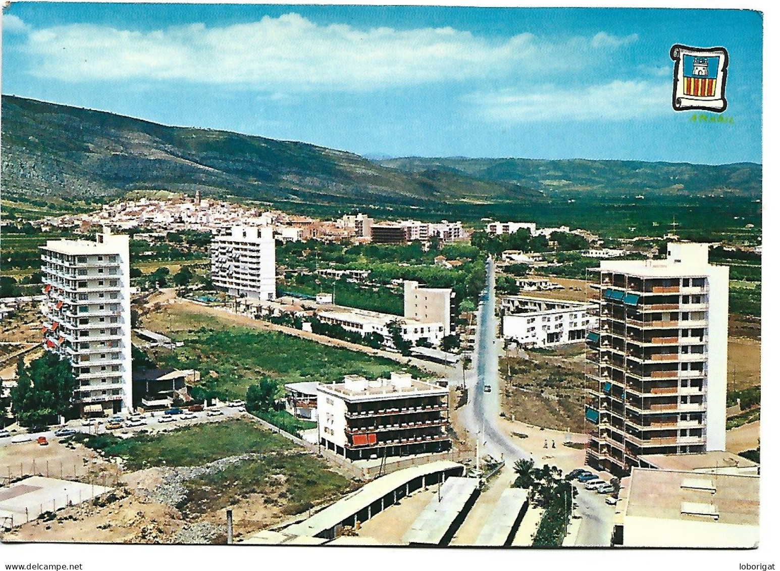
[[[156,349],[160,366],[200,371],[201,384],[222,399],[243,399],[246,388],[266,376],[278,385],[299,381],[341,381],[346,374],[386,377],[401,366],[395,361],[349,349],[324,346],[282,332],[231,325],[180,306],[144,318],[144,327],[184,342],[176,349]],[[416,377],[427,376],[406,367]]]

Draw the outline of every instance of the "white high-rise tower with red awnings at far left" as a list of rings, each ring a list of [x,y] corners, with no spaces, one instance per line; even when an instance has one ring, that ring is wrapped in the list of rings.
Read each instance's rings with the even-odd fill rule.
[[[41,250],[43,342],[73,364],[80,414],[131,410],[129,237],[104,229],[94,242],[48,240]]]

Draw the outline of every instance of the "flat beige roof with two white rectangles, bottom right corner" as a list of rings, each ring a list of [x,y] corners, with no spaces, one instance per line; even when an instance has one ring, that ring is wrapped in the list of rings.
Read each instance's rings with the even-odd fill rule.
[[[633,468],[626,518],[758,526],[759,481],[752,474]]]

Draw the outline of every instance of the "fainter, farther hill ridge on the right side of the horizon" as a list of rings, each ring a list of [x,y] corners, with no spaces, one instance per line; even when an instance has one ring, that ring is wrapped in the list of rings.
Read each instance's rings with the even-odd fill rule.
[[[761,197],[761,165],[691,165],[643,161],[548,161],[530,158],[392,158],[378,161],[406,172],[446,170],[495,183],[555,193],[734,193]]]

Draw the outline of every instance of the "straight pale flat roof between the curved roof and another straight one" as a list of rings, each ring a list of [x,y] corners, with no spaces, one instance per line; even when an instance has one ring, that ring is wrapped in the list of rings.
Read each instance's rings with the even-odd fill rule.
[[[452,522],[463,512],[466,503],[477,491],[479,484],[479,478],[448,478],[441,486],[441,494],[431,498],[431,502],[404,534],[403,541],[410,544],[440,544]]]

